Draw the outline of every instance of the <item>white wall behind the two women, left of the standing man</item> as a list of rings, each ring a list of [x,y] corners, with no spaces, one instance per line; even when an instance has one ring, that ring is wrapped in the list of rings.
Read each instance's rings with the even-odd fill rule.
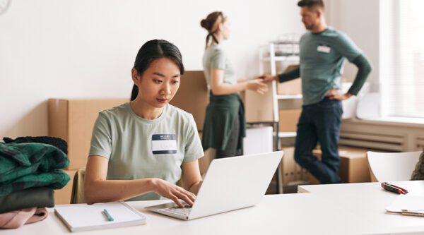
[[[258,73],[258,47],[305,32],[297,0],[20,0],[0,16],[0,138],[47,135],[47,99],[129,97],[130,70],[147,40],[163,38],[201,70],[200,20],[224,11],[239,77]]]

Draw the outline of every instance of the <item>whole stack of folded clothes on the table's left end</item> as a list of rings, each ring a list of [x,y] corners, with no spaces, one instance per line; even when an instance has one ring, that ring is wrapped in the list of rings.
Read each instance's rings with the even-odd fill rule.
[[[0,228],[13,229],[47,217],[54,207],[53,189],[69,176],[66,141],[47,136],[0,142]]]

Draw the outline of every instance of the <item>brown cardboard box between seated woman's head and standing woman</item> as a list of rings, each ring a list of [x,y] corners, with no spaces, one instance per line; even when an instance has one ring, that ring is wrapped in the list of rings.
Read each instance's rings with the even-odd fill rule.
[[[202,131],[208,103],[209,92],[204,71],[186,71],[170,104],[193,114],[197,130]]]

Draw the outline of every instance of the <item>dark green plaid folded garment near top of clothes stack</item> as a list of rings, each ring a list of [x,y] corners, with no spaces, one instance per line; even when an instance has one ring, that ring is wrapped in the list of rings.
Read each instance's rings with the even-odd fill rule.
[[[59,169],[68,165],[66,154],[53,145],[0,142],[0,196],[25,188],[63,188],[70,178]]]

